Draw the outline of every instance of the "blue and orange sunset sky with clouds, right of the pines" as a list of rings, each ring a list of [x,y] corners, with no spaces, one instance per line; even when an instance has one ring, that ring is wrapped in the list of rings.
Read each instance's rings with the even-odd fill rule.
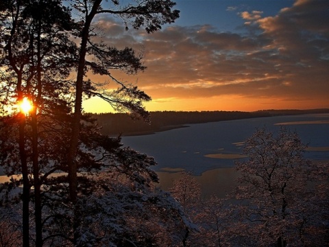
[[[329,108],[328,0],[175,2],[180,19],[154,34],[98,20],[106,43],[143,51],[144,73],[112,75],[151,96],[147,110]],[[96,98],[83,106],[112,111]]]

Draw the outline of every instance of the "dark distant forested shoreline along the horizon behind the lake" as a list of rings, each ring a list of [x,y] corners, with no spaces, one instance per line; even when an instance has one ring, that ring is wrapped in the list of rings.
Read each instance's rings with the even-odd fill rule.
[[[100,132],[110,136],[152,134],[158,131],[182,128],[187,124],[202,124],[214,121],[248,119],[252,117],[273,117],[279,115],[301,115],[310,113],[329,113],[329,109],[312,110],[258,110],[241,111],[156,111],[150,112],[150,123],[132,119],[125,113],[92,114],[96,117]]]

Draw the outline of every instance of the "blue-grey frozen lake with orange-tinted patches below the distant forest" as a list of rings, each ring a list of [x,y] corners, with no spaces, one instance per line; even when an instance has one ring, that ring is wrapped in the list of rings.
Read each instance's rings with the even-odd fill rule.
[[[310,150],[306,158],[329,161],[329,114],[291,115],[191,124],[156,134],[123,137],[122,142],[134,150],[154,156],[154,167],[163,189],[171,187],[179,171],[186,170],[202,183],[204,194],[223,194],[234,185],[235,154],[241,154],[243,141],[256,128],[264,126],[277,132],[284,125],[296,131]],[[222,154],[209,158],[208,154]]]

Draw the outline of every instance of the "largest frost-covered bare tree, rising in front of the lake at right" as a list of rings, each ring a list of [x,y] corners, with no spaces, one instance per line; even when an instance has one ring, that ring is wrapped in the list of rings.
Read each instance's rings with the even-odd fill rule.
[[[328,218],[324,220],[323,214],[328,208],[319,204],[317,187],[324,174],[328,178],[328,164],[319,167],[306,160],[305,148],[297,133],[285,128],[277,136],[263,128],[245,141],[243,154],[248,159],[236,162],[241,172],[236,189],[235,206],[241,215],[236,239],[247,246],[328,243]],[[321,201],[328,203],[328,197]]]

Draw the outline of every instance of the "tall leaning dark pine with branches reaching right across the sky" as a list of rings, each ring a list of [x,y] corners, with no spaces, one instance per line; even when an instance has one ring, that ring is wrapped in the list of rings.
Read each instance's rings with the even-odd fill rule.
[[[77,78],[75,82],[75,106],[73,121],[71,124],[70,150],[67,157],[69,167],[69,187],[70,197],[73,204],[77,200],[77,162],[76,155],[80,136],[80,121],[82,114],[82,96],[83,93],[97,95],[110,102],[117,110],[129,110],[133,114],[146,117],[145,110],[141,105],[143,101],[149,101],[151,98],[136,86],[120,82],[113,78],[110,70],[121,69],[126,73],[137,73],[143,71],[145,67],[141,64],[141,56],[136,56],[130,48],[119,50],[115,47],[95,43],[91,38],[93,32],[93,22],[98,14],[112,14],[122,18],[128,29],[128,23],[138,29],[145,27],[145,30],[155,32],[165,23],[172,23],[178,18],[178,10],[172,10],[175,3],[170,0],[156,1],[134,1],[130,3],[120,3],[120,1],[110,1],[111,4],[105,5],[102,0],[96,1],[69,1],[72,7],[79,12],[80,20],[77,25],[77,34],[81,39],[79,45],[79,57],[77,63]],[[93,56],[95,61],[88,62],[86,57]],[[93,73],[108,75],[114,82],[117,82],[119,89],[110,94],[102,94],[91,86],[90,80],[85,80],[86,71],[90,69]],[[78,216],[77,216],[78,219]],[[76,222],[78,225],[78,220]],[[75,236],[75,239],[77,236]]]

